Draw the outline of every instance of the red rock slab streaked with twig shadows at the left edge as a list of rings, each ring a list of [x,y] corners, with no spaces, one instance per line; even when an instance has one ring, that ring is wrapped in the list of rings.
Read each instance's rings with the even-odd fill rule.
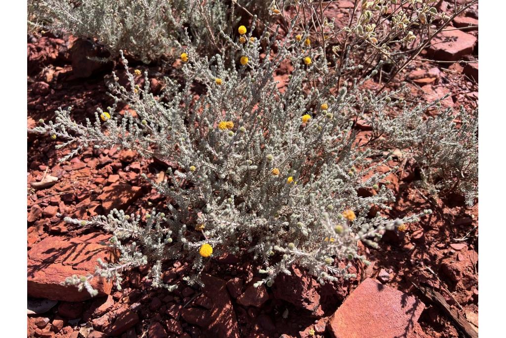
[[[90,299],[87,291],[60,283],[72,275],[88,275],[95,271],[97,259],[111,261],[112,252],[100,244],[109,236],[89,233],[77,237],[48,236],[28,251],[28,295],[58,301],[78,302]],[[99,296],[110,294],[112,283],[93,278],[92,286]]]

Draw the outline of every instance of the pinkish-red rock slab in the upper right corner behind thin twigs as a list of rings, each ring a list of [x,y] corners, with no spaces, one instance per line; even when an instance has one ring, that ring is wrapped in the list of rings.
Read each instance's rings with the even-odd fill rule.
[[[431,41],[428,55],[441,61],[458,61],[473,53],[478,39],[460,30],[442,31]]]

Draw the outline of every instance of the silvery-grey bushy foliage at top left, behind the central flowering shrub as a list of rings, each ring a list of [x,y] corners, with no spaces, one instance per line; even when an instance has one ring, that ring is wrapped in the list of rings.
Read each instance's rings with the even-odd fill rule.
[[[238,3],[254,10],[270,1]],[[31,0],[28,12],[37,26],[97,39],[112,57],[124,50],[147,63],[179,49],[185,28],[200,51],[218,51],[220,28],[230,32],[240,20],[238,7],[223,0]]]

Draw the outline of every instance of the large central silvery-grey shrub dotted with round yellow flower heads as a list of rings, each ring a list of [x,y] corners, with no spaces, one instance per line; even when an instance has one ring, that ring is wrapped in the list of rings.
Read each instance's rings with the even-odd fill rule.
[[[289,274],[293,264],[323,283],[353,276],[347,272],[352,260],[367,263],[357,252],[359,241],[376,247],[385,229],[430,213],[425,210],[395,221],[379,213],[366,217],[372,205],[388,209],[387,203],[395,201],[392,191],[380,183],[388,184],[385,177],[397,168],[375,173],[390,156],[355,142],[352,128],[365,105],[361,85],[377,70],[360,82],[336,88],[335,71],[327,68],[321,49],[307,48],[304,41],[292,38],[278,40],[267,31],[250,41],[253,28],[245,44],[222,32],[234,51],[228,55],[231,66],[225,66],[223,55],[201,56],[186,43],[189,62],[181,69],[183,84],[165,78],[165,91],[158,98],[149,92],[147,73],[145,87],[136,86],[139,79],[122,58],[129,84],[121,86],[114,75],[110,119],[102,122],[98,109],[93,121],[78,124],[70,109],[60,108],[54,122],[41,121],[32,130],[55,135],[63,141],[58,148],[74,146],[62,161],[94,144],[100,149],[134,149],[146,158],[179,166],[167,170],[167,181],[144,176],[169,201],[166,213],[152,211],[145,223],[141,215],[117,210],[88,221],[66,219],[112,233],[110,245],[120,252],[119,260],[102,264],[93,276],[116,279],[119,285],[123,269],[147,262],[153,284],[172,289],[174,285],[162,281],[162,264],[187,259],[193,260],[197,272],[188,282],[199,282],[198,272],[209,262],[199,255],[199,248],[208,243],[216,257],[252,255],[264,264],[260,283],[268,286],[278,273]],[[287,36],[292,36],[291,30]],[[241,56],[248,57],[246,65],[235,64]],[[306,56],[312,59],[309,66],[302,62]],[[273,74],[282,62],[293,70],[280,90]],[[205,88],[199,96],[192,91],[196,84]],[[379,95],[378,107],[389,99],[389,93]],[[138,117],[120,116],[119,102],[128,103]],[[322,103],[328,109],[322,111]],[[307,123],[301,119],[305,114],[312,116]],[[223,121],[232,121],[233,128],[220,129]],[[273,174],[274,168],[279,174]],[[293,178],[291,183],[288,177]],[[375,189],[376,194],[361,197],[357,194],[361,188]],[[356,219],[343,217],[347,209],[357,213]],[[348,262],[345,268],[338,267],[342,261]],[[89,289],[93,276],[68,278],[66,283]]]

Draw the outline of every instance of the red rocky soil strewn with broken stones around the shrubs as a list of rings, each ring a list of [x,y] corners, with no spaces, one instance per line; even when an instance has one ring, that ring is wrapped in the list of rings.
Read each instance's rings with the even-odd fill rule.
[[[339,3],[336,16],[347,13],[348,3]],[[453,22],[454,28],[469,24],[478,24],[477,8]],[[478,63],[472,62],[478,56],[477,37],[473,29],[448,30],[434,41],[419,59],[435,62],[414,61],[402,74],[413,98],[433,100],[451,93],[443,103],[447,107],[477,107]],[[110,105],[104,77],[116,65],[83,59],[100,55],[90,43],[45,33],[28,36],[27,50],[28,127],[53,118],[60,106],[72,106],[73,117],[82,121],[93,117],[97,107]],[[171,67],[131,66],[148,70],[154,92],[162,86],[159,74],[171,72]],[[286,73],[277,76],[283,81]],[[405,233],[386,233],[379,250],[362,247],[372,264],[353,267],[356,279],[322,286],[293,267],[292,276],[279,276],[272,288],[255,288],[259,267],[225,256],[204,271],[203,288],[185,284],[188,262],[177,261],[164,274],[164,281],[180,285],[173,293],[153,289],[145,279],[146,266],[126,273],[121,292],[97,281],[100,295],[90,299],[60,282],[93,271],[97,258],[114,259],[103,245],[108,236],[65,224],[63,217],[87,219],[113,208],[141,215],[152,207],[163,209],[163,198],[140,173],[163,180],[167,167],[176,169],[177,164],[145,160],[132,151],[92,148],[59,163],[67,150],[55,150],[57,141],[33,134],[27,141],[28,337],[464,336],[415,285],[440,293],[477,330],[478,203],[466,208],[456,195],[428,198],[411,184],[415,173],[409,163],[388,178],[397,202],[386,214],[434,213]],[[402,164],[401,157],[392,163]],[[32,187],[47,175],[57,180]]]

